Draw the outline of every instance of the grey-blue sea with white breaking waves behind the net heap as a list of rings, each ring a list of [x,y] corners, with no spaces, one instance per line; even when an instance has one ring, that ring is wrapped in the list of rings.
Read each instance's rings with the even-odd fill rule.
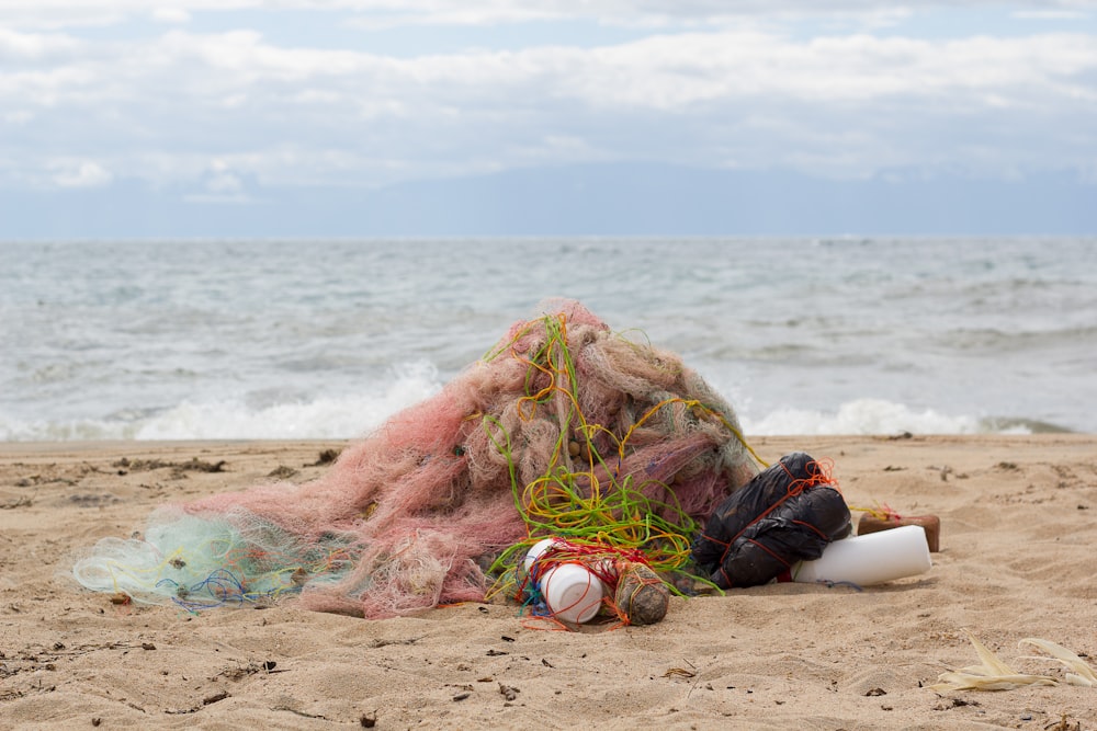
[[[0,441],[355,438],[539,304],[747,435],[1097,432],[1097,239],[0,243]]]

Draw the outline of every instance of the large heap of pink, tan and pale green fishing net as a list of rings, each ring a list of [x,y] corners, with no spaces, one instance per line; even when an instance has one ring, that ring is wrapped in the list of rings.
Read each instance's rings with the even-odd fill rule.
[[[484,601],[550,535],[680,569],[697,522],[757,473],[734,411],[676,354],[550,305],[325,477],[162,507],[75,575],[192,610],[292,593],[378,618]]]

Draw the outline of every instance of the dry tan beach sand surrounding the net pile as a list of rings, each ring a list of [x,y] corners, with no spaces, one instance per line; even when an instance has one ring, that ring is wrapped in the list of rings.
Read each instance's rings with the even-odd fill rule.
[[[0,445],[0,727],[1097,728],[1097,688],[924,687],[976,663],[964,628],[1019,671],[1063,676],[1025,659],[1026,637],[1097,664],[1088,435],[757,438],[767,460],[832,457],[851,505],[940,516],[932,570],[861,592],[770,584],[675,598],[649,627],[546,631],[506,605],[376,621],[292,601],[189,615],[115,605],[64,578],[73,551],[127,537],[163,502],[279,468],[319,477],[325,466],[305,465],[342,446]],[[126,469],[123,457],[165,465]],[[193,458],[224,471],[178,467]]]

